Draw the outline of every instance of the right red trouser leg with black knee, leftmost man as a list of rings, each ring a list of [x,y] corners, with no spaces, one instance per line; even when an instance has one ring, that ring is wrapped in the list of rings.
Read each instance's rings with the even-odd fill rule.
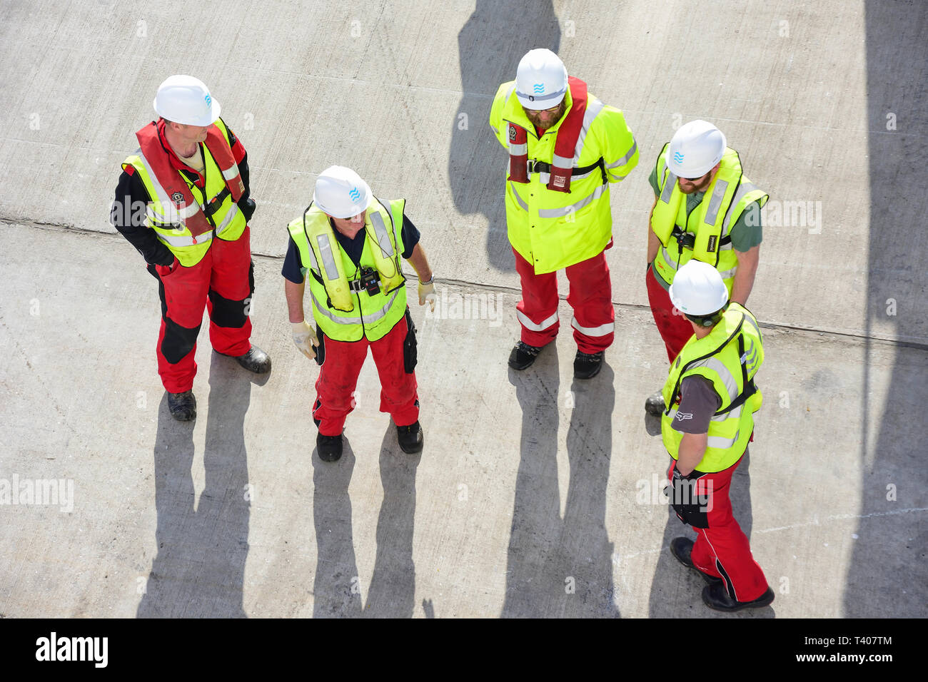
[[[244,355],[251,348],[251,293],[254,291],[250,228],[235,241],[213,239],[210,296],[210,341],[226,355]],[[205,260],[205,258],[204,258]]]

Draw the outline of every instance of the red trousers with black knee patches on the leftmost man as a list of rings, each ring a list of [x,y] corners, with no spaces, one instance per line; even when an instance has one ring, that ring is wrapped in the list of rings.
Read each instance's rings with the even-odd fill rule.
[[[161,331],[158,334],[158,373],[167,392],[193,388],[197,374],[197,336],[203,306],[210,314],[210,342],[226,355],[243,355],[251,348],[248,313],[254,272],[249,227],[235,241],[214,237],[200,263],[173,269],[150,265],[161,287]]]

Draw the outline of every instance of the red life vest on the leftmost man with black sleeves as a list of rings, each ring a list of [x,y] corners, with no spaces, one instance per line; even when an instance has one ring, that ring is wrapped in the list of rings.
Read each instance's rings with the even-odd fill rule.
[[[165,153],[165,148],[161,145],[159,123],[152,121],[135,133],[141,155],[148,162],[154,179],[164,188],[167,197],[174,201],[177,211],[185,216],[184,225],[187,226],[190,234],[196,237],[209,232],[213,229],[213,225],[210,224],[200,204],[193,198],[190,187],[187,186],[187,180],[171,164],[170,156]],[[232,149],[229,147],[226,136],[215,123],[207,129],[204,145],[213,157],[213,161],[219,166],[219,170],[222,171],[232,200],[238,201],[245,193],[245,184],[241,181],[238,164],[232,156]],[[204,158],[204,165],[206,161]]]

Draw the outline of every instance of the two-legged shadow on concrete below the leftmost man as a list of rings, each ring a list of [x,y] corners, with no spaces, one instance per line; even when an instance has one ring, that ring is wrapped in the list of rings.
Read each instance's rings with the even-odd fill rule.
[[[246,616],[242,589],[251,495],[243,427],[252,380],[263,383],[267,377],[255,379],[232,358],[213,353],[199,499],[191,472],[194,422],[175,421],[167,393],[161,398],[154,448],[158,553],[139,618]]]

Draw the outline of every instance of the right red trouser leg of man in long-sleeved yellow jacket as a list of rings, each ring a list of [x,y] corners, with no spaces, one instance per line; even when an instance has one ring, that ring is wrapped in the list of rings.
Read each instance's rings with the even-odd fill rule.
[[[571,283],[567,302],[574,308],[574,341],[583,353],[599,353],[612,345],[615,311],[612,309],[612,280],[605,252],[566,268]]]

